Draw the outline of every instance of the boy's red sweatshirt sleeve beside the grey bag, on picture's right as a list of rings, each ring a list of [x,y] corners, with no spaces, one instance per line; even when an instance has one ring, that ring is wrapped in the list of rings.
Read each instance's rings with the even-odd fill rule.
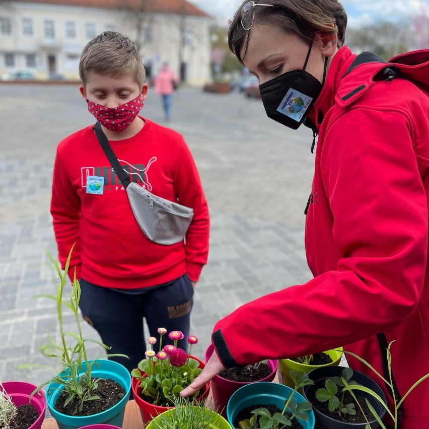
[[[189,278],[198,281],[207,263],[210,219],[201,179],[185,141],[179,145],[175,165],[174,188],[178,202],[194,210],[185,238],[186,265]]]

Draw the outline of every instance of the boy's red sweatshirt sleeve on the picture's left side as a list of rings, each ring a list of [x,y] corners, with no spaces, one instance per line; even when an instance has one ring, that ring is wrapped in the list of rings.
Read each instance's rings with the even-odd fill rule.
[[[68,276],[73,281],[76,267],[76,278],[79,280],[82,266],[79,239],[81,200],[61,162],[59,150],[55,158],[52,179],[51,215],[62,269],[65,267],[70,249],[76,243],[69,263]]]

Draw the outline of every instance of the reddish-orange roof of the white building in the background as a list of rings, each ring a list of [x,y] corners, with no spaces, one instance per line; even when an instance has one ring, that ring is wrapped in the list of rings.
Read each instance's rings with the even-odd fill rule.
[[[134,9],[151,13],[191,15],[211,18],[186,0],[15,0],[19,3],[43,3],[47,5],[77,6],[98,9]]]

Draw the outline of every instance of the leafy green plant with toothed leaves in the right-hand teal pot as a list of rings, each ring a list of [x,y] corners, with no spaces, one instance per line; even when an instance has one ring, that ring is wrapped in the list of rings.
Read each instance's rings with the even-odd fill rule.
[[[291,378],[295,387],[289,398],[284,401],[283,411],[274,413],[271,416],[267,408],[256,408],[252,411],[254,415],[250,419],[239,422],[240,429],[257,429],[258,427],[260,429],[282,429],[283,427],[291,426],[294,418],[307,421],[309,418],[307,411],[312,409],[311,403],[307,401],[297,403],[293,397],[298,389],[314,384],[314,382],[308,378],[307,373],[304,371],[298,371],[297,373],[291,371]],[[288,412],[288,415],[285,415],[286,412]],[[259,422],[258,416],[260,416]]]

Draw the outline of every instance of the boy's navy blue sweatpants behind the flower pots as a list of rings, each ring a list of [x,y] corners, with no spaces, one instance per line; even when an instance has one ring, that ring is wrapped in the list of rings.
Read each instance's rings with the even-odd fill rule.
[[[111,346],[108,353],[123,353],[125,358],[111,358],[131,372],[146,359],[147,337],[143,330],[143,318],[149,327],[149,336],[158,339],[154,350],[158,351],[158,328],[166,328],[162,346],[172,344],[171,331],[182,331],[184,339],[178,346],[187,350],[190,312],[193,305],[193,288],[187,274],[171,283],[149,288],[148,292],[128,294],[117,289],[102,288],[81,278],[79,308],[84,319],[101,336],[104,344]]]

